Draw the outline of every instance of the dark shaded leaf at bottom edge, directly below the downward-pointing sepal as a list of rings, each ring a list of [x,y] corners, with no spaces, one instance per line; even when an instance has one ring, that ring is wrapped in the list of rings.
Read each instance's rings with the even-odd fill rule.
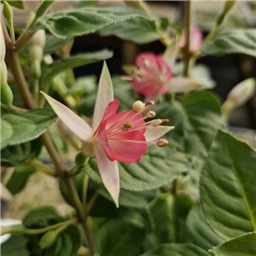
[[[144,228],[131,221],[109,219],[96,232],[96,247],[101,256],[136,256],[144,235]]]

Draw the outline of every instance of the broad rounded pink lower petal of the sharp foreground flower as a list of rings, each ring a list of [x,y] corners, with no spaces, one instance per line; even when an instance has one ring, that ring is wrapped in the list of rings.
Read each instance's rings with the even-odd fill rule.
[[[115,137],[115,139],[116,138],[119,140],[109,139],[108,143],[112,150],[113,157],[120,162],[137,163],[143,154],[147,152],[146,140],[140,131],[124,131],[119,135],[119,138]],[[125,140],[134,141],[134,143],[125,142]]]

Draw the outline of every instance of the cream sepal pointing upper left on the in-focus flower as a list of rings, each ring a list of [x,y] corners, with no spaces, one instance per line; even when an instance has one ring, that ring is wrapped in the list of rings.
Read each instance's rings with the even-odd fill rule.
[[[69,108],[60,102],[55,101],[55,99],[44,92],[41,91],[41,93],[44,95],[46,100],[49,102],[49,105],[53,108],[61,121],[82,141],[90,143],[93,134],[90,126]]]

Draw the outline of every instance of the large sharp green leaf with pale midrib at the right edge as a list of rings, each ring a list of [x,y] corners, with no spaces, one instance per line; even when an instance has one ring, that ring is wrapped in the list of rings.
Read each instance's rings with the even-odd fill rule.
[[[256,230],[256,152],[223,131],[201,171],[200,194],[207,223],[230,239]]]

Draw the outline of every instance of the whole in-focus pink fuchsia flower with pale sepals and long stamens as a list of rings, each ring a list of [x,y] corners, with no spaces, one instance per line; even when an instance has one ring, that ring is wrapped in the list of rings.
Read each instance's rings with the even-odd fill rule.
[[[102,182],[118,207],[117,160],[135,163],[146,154],[148,143],[166,146],[168,142],[159,138],[173,127],[161,126],[160,124],[166,123],[165,119],[144,121],[154,118],[153,111],[142,115],[154,102],[135,102],[131,111],[116,113],[119,101],[113,99],[113,86],[106,64],[102,69],[91,127],[60,102],[46,94],[44,96],[62,122],[84,142],[82,153],[85,156],[96,156]]]

